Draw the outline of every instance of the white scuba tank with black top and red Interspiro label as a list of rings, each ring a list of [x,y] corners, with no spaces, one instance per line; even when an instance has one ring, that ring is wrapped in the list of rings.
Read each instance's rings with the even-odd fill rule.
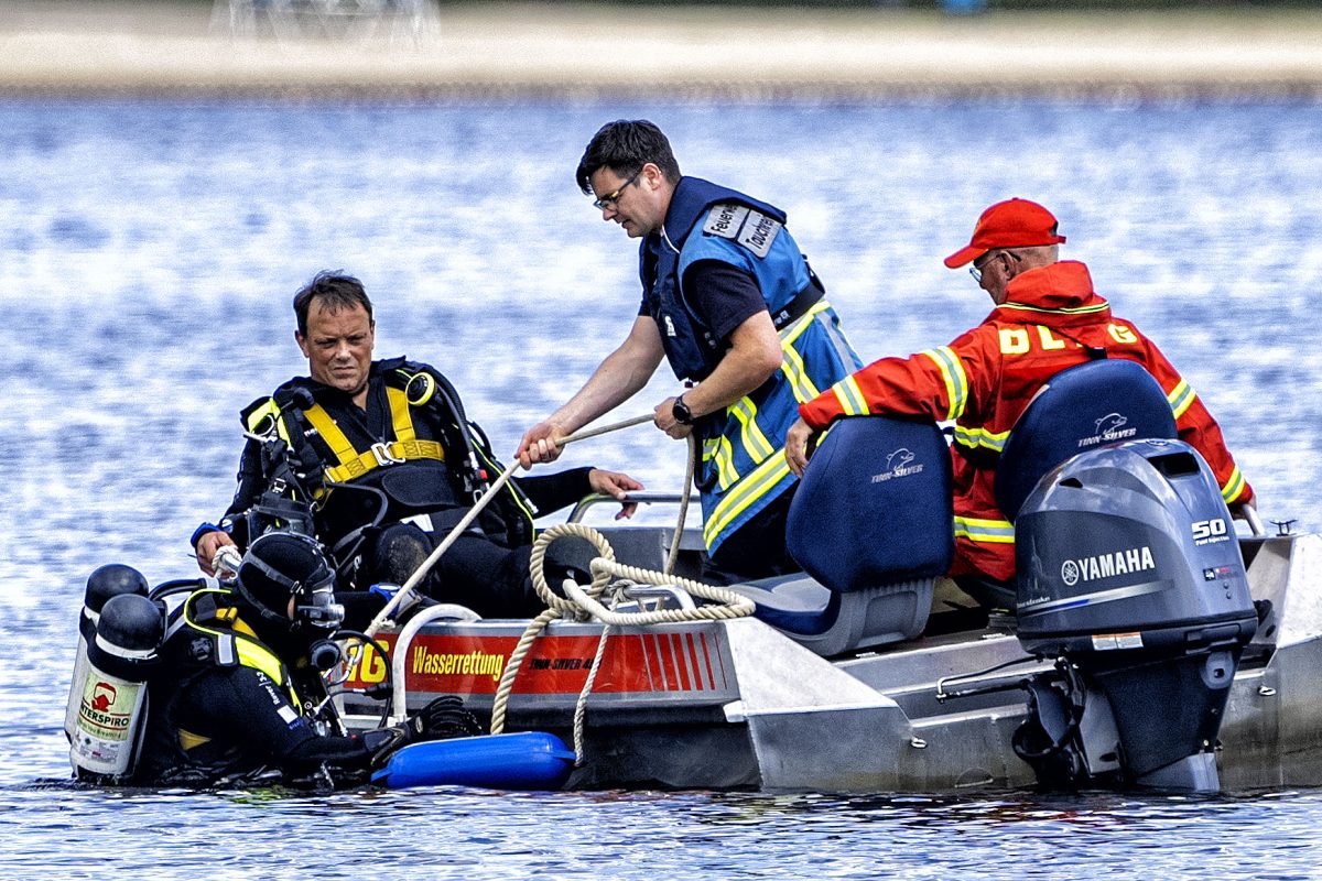
[[[139,593],[111,597],[87,641],[69,761],[78,779],[119,782],[134,771],[147,719],[147,678],[165,638],[160,605]]]

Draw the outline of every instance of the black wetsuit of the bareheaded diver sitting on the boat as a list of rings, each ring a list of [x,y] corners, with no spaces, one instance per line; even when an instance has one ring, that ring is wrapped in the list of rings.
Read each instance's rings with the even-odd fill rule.
[[[398,441],[398,417],[393,411],[389,390],[393,387],[398,391],[408,378],[419,374],[430,374],[444,383],[442,388],[449,390],[448,395],[435,394],[426,404],[408,407],[408,420],[416,440],[439,444],[443,460],[436,458],[440,453],[434,452],[415,460],[377,466],[375,460],[360,457],[368,461],[370,470],[341,481],[340,486],[333,486],[327,495],[319,498],[315,530],[336,556],[341,572],[346,573],[341,588],[365,590],[377,581],[406,580],[471,507],[475,482],[493,482],[501,465],[496,462],[480,429],[467,424],[457,395],[444,378],[426,365],[406,362],[403,358],[371,365],[365,409],[358,408],[346,392],[308,378],[297,378],[276,390],[270,399],[260,399],[245,411],[245,421],[254,431],[258,428],[254,423],[259,421],[254,413],[266,407],[267,402],[275,402],[290,437],[288,460],[292,470],[301,476],[301,482],[308,483],[305,490],[309,494],[319,495],[324,491],[328,469],[341,464],[345,457],[337,457],[327,442],[325,431],[317,431],[316,424],[307,417],[307,404],[311,403],[329,416],[353,450],[377,448],[389,453],[383,445]],[[447,404],[447,396],[453,398],[452,405]],[[323,428],[327,428],[325,423]],[[435,446],[431,449],[435,450]],[[247,539],[247,520],[243,515],[270,490],[271,468],[271,462],[266,461],[263,444],[250,440],[239,464],[238,490],[222,520],[222,526],[230,528],[241,548]],[[483,510],[473,526],[440,557],[423,582],[423,590],[436,600],[457,602],[485,617],[526,617],[539,612],[545,604],[535,596],[529,579],[533,518],[590,494],[590,470],[578,468],[512,479],[500,497]],[[354,487],[368,489],[360,491]],[[389,507],[379,526],[364,531],[362,542],[354,542],[356,530],[374,520],[383,498]],[[427,518],[418,528],[391,528],[391,524],[418,515]]]

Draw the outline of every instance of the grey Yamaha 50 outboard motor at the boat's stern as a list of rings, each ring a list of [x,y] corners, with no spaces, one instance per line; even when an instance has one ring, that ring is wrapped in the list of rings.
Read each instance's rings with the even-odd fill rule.
[[[1216,791],[1212,749],[1257,629],[1216,478],[1177,440],[1050,472],[1015,518],[1018,637],[1032,676],[1015,752],[1039,781]]]

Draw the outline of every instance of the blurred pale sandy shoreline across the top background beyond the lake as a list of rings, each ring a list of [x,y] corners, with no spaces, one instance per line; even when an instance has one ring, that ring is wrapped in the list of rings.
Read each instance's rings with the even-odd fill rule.
[[[225,8],[219,9],[221,13]],[[1322,95],[1322,16],[443,7],[432,30],[242,37],[206,4],[0,0],[0,92]]]

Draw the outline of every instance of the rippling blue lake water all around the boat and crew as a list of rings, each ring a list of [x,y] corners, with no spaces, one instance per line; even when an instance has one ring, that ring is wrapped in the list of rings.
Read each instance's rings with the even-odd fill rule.
[[[865,359],[976,324],[989,301],[941,258],[990,202],[1047,203],[1218,416],[1264,519],[1318,528],[1317,103],[0,103],[0,878],[1319,877],[1322,790],[50,783],[87,575],[190,575],[188,535],[233,490],[237,411],[303,371],[290,297],[317,269],[358,275],[378,354],[444,370],[504,453],[619,342],[635,248],[572,173],[621,116],[660,123],[685,172],[784,207]],[[658,374],[619,417],[673,388]],[[642,427],[566,461],[674,490],[683,449]]]

